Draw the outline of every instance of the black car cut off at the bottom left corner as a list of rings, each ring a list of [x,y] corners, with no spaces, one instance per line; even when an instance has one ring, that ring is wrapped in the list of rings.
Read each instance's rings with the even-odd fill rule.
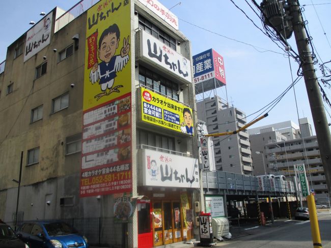
[[[0,248],[29,248],[19,240],[10,226],[0,223]]]

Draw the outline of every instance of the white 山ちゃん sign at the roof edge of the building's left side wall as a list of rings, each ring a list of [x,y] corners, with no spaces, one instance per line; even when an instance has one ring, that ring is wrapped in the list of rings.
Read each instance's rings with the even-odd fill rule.
[[[26,33],[24,62],[50,43],[52,16],[49,13]]]

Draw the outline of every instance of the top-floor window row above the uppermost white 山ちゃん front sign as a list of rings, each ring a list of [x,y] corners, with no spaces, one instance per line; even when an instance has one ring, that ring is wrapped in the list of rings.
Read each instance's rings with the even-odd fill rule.
[[[167,33],[164,33],[161,29],[143,16],[139,15],[138,18],[140,28],[176,51],[176,40],[174,38],[169,36]]]

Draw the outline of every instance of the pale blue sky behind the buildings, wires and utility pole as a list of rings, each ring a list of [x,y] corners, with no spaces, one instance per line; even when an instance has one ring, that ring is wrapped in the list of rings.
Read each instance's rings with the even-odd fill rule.
[[[227,86],[217,89],[219,97],[227,99],[230,105],[246,113],[247,122],[261,115],[257,112],[267,106],[297,78],[298,64],[289,59],[269,37],[264,35],[261,20],[247,3],[251,0],[233,0],[245,16],[230,0],[159,0],[171,9],[179,18],[179,30],[191,41],[192,55],[210,48],[224,58]],[[257,3],[260,3],[258,0]],[[30,21],[39,21],[41,12],[50,12],[58,6],[64,10],[73,7],[77,0],[32,0],[5,1],[0,8],[0,61],[6,59],[7,47],[24,34],[31,25]],[[179,3],[181,3],[179,5]],[[331,0],[300,0],[304,7],[304,19],[308,21],[308,30],[313,38],[318,64],[315,65],[319,80],[322,73],[319,64],[331,61],[331,25],[329,13]],[[315,8],[314,8],[315,7]],[[324,34],[325,33],[325,34]],[[246,44],[244,44],[246,43]],[[276,42],[281,47],[280,42]],[[288,40],[296,50],[294,35]],[[284,47],[283,47],[284,48]],[[267,51],[271,50],[271,51]],[[331,63],[326,64],[331,68]],[[323,85],[321,83],[321,85]],[[252,128],[271,123],[292,120],[298,123],[298,117],[308,117],[313,126],[313,118],[307,97],[304,79],[300,79],[281,101],[269,112],[269,116],[260,120]],[[331,92],[323,87],[331,101]],[[296,102],[297,108],[296,108]],[[214,91],[207,92],[206,97],[213,97]],[[201,100],[197,96],[197,100]],[[327,121],[331,122],[331,109],[326,106]],[[257,112],[257,113],[256,113]],[[313,133],[315,130],[313,127]]]

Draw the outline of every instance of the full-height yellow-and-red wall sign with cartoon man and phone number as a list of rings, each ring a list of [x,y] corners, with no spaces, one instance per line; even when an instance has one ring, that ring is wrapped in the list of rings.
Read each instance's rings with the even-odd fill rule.
[[[131,3],[102,0],[87,12],[80,196],[132,191]],[[127,220],[129,203],[117,204]]]

